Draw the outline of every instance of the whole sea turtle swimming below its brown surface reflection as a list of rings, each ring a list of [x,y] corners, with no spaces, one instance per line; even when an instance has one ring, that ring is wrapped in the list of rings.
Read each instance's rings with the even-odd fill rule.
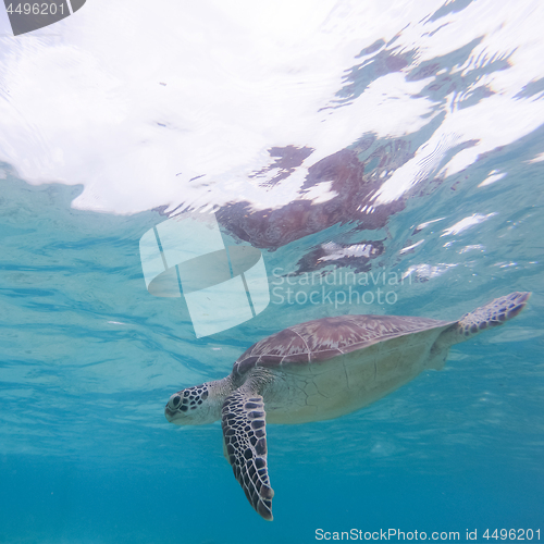
[[[459,321],[342,316],[289,326],[254,344],[226,378],[172,395],[164,413],[178,425],[221,419],[234,475],[271,520],[267,422],[320,421],[370,405],[421,371],[440,370],[452,345],[514,318],[530,295],[496,298]]]

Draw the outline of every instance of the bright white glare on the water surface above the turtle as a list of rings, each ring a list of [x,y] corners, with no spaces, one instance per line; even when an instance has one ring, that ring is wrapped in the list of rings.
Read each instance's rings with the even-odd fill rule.
[[[213,208],[233,198],[267,208],[299,198],[308,168],[362,135],[404,136],[445,113],[376,193],[374,205],[387,203],[437,169],[459,172],[544,122],[541,100],[514,98],[544,73],[544,4],[481,0],[430,21],[442,4],[157,0],[151,9],[94,0],[16,38],[4,17],[0,160],[33,184],[82,184],[79,209]],[[469,74],[497,59],[510,66],[478,79],[465,94],[486,85],[495,95],[462,109],[455,92],[445,107],[419,96],[432,78],[408,81],[410,66],[331,108],[346,71],[364,60],[360,51],[394,37],[397,52],[417,50],[415,65],[482,38],[455,70]],[[475,145],[443,164],[469,140]],[[268,149],[288,145],[314,151],[274,187],[249,177],[274,162]]]

